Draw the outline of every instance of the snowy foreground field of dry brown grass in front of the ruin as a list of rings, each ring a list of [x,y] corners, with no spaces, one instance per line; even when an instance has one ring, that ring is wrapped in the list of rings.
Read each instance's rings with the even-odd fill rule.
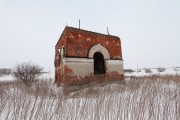
[[[56,87],[39,81],[0,83],[0,120],[179,120],[180,76],[126,77],[112,82]]]

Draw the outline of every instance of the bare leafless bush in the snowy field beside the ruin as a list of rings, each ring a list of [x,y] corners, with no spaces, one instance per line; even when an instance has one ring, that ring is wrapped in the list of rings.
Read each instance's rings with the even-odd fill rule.
[[[17,64],[13,75],[16,79],[22,80],[28,86],[42,75],[43,68],[30,62]]]

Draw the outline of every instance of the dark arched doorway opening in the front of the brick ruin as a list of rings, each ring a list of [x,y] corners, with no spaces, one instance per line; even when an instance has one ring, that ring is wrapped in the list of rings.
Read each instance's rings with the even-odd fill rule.
[[[100,52],[96,52],[94,58],[94,74],[105,74],[104,56]]]

